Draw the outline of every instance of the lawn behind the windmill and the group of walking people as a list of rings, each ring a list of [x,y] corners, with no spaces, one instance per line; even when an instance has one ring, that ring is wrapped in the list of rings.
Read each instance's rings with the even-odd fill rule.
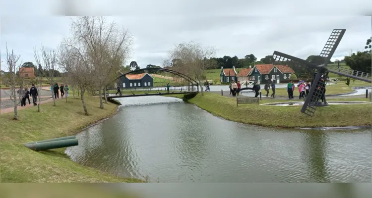
[[[298,88],[297,84],[295,83],[296,89],[294,91],[294,96],[298,96]],[[363,81],[356,80],[355,82],[350,81],[350,85],[347,86],[344,81],[338,82],[334,85],[327,85],[326,86],[326,95],[333,95],[333,94],[347,94],[353,92],[354,90],[351,89],[352,87],[360,87],[360,86],[371,86],[371,83],[366,83]],[[264,89],[260,90],[262,93],[266,93]],[[270,90],[271,93],[271,90]],[[287,88],[277,88],[275,89],[275,96],[288,96]]]

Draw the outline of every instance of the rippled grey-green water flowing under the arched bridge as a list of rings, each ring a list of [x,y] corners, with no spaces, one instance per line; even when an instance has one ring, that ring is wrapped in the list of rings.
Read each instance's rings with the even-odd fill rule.
[[[170,97],[120,100],[116,116],[76,136],[72,160],[152,182],[371,182],[370,130],[265,128]]]

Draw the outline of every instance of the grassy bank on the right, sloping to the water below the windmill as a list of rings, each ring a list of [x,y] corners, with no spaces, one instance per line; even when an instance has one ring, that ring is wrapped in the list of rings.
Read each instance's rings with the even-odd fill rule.
[[[170,97],[183,98],[183,95],[173,95]],[[363,98],[335,100],[368,101],[368,99]],[[213,93],[204,93],[204,96],[198,94],[195,98],[188,101],[224,119],[259,126],[295,128],[372,125],[372,104],[318,107],[315,115],[309,117],[300,112],[301,106],[284,107],[240,104],[239,107],[236,107],[235,98],[223,97]],[[261,101],[261,103],[272,102],[271,100]],[[280,101],[285,100],[275,100],[275,102]]]

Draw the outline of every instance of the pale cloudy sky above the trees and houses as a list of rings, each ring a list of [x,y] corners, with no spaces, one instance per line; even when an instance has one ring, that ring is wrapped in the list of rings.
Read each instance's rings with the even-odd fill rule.
[[[41,44],[47,49],[56,49],[62,37],[69,36],[70,17],[61,16],[64,14],[114,15],[108,16],[108,20],[127,28],[134,38],[131,58],[126,64],[134,60],[141,68],[148,64],[161,66],[169,49],[189,41],[215,47],[217,57],[243,58],[252,53],[259,60],[277,50],[306,59],[320,53],[333,29],[346,29],[333,61],[351,51],[364,50],[366,40],[372,35],[372,4],[368,0],[332,3],[335,1],[311,0],[301,4],[291,0],[135,0],[125,3],[118,0],[90,3],[87,0],[0,0],[0,56],[4,60],[5,42],[8,49],[21,55],[23,62],[35,62],[34,48],[40,49]],[[1,69],[4,70],[3,66]]]

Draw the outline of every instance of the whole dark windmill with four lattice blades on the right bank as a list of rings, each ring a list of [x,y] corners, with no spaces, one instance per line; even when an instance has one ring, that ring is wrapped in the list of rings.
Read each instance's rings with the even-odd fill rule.
[[[327,63],[331,59],[333,53],[335,52],[338,44],[340,43],[342,37],[345,34],[346,29],[334,29],[328,38],[327,42],[325,43],[325,46],[323,50],[320,52],[320,57],[324,59],[323,64],[317,65],[314,63],[311,63],[309,61],[306,61],[304,59],[291,56],[279,51],[274,51],[273,53],[273,59],[274,62],[279,62],[280,64],[286,64],[288,62],[297,62],[301,65],[308,66],[312,69],[315,69],[316,72],[313,75],[313,80],[311,82],[311,88],[309,91],[309,96],[306,97],[306,100],[304,102],[304,105],[301,109],[302,113],[305,113],[306,115],[313,116],[316,110],[317,106],[323,106],[319,102],[319,99],[324,94],[325,91],[325,85],[328,81],[328,73],[334,73],[340,76],[345,76],[361,81],[365,81],[368,83],[371,83],[372,76],[369,73],[352,70],[352,69],[346,69],[343,67],[338,67],[337,65],[327,66]],[[326,102],[325,102],[325,105]]]

